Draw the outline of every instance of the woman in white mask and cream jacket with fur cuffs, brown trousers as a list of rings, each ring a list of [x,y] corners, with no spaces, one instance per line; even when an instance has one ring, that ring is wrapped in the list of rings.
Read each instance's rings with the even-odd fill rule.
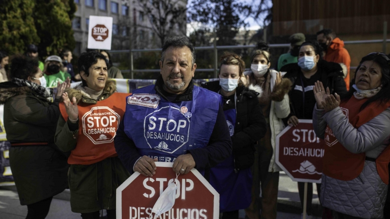
[[[250,219],[256,219],[259,210],[260,186],[262,191],[261,218],[276,219],[277,193],[280,167],[275,164],[276,136],[285,127],[282,119],[290,114],[288,92],[291,81],[282,78],[271,67],[271,54],[264,42],[259,42],[252,53],[251,71],[245,72],[249,79],[249,89],[257,91],[259,104],[267,121],[267,133],[257,144],[258,158],[255,161],[253,200],[245,209]],[[258,169],[257,169],[258,167]]]

